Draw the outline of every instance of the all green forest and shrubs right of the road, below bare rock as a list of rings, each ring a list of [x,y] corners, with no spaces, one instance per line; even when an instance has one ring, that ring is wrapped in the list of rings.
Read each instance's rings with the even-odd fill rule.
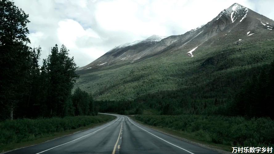
[[[176,136],[230,152],[231,147],[271,147],[273,41],[227,45],[194,62],[147,60],[115,68],[112,78],[109,69],[95,70],[76,85],[92,92],[99,111],[135,115]]]

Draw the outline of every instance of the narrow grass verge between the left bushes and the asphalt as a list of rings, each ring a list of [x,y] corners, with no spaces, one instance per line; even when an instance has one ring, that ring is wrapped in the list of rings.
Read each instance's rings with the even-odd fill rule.
[[[93,117],[93,116],[91,116],[91,117]],[[89,124],[89,125],[86,125],[86,126],[81,126],[79,128],[75,128],[75,129],[67,129],[67,130],[63,130],[63,131],[59,131],[59,132],[52,132],[52,133],[44,134],[44,135],[39,136],[35,139],[31,139],[31,140],[27,140],[27,141],[21,141],[21,142],[18,142],[18,143],[12,142],[10,144],[0,146],[0,152],[6,152],[6,151],[10,151],[10,150],[17,149],[17,148],[27,147],[27,146],[31,146],[31,145],[35,145],[35,144],[40,144],[40,143],[43,143],[43,142],[46,142],[46,141],[49,141],[49,140],[53,140],[53,139],[56,139],[56,138],[67,136],[67,135],[71,135],[71,134],[74,134],[74,133],[79,132],[79,131],[84,131],[84,130],[87,130],[87,129],[94,128],[96,126],[102,125],[102,124],[107,123],[108,121],[111,121],[111,120],[116,118],[115,116],[112,116],[112,115],[97,115],[95,117],[102,118],[102,119],[104,119],[104,121],[103,122],[92,123],[92,124]],[[106,120],[106,119],[108,119],[108,120]],[[3,145],[3,143],[0,143],[0,144]]]

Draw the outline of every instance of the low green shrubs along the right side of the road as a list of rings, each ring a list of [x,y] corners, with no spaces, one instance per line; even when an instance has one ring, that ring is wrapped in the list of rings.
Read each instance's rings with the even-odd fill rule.
[[[145,124],[167,127],[209,143],[240,147],[273,147],[274,121],[252,118],[206,115],[136,115]]]

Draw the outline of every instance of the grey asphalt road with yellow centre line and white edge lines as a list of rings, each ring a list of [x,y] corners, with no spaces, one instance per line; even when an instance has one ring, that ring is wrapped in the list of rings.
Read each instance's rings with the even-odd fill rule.
[[[117,116],[117,119],[99,127],[14,150],[8,152],[8,154],[217,154],[215,151],[144,127],[127,116],[115,116]]]

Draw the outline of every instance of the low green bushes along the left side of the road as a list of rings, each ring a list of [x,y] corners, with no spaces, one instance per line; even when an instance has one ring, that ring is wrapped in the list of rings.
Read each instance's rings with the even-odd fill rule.
[[[113,118],[109,115],[99,115],[6,120],[0,123],[0,149],[8,144],[31,141],[56,132],[106,122]]]

